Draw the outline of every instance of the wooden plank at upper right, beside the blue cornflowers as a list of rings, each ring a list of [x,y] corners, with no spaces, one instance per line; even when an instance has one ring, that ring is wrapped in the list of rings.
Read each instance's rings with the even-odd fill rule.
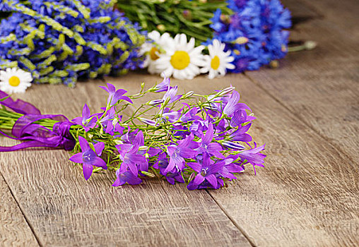
[[[319,2],[326,3],[315,1]],[[340,11],[341,4],[336,1],[336,20],[345,23],[348,14]],[[246,75],[325,141],[346,152],[352,162],[358,162],[359,42],[326,18],[326,8],[320,11],[324,18],[302,23],[291,34],[294,40],[316,41],[316,49],[288,54],[278,69],[263,68]],[[356,28],[359,31],[358,25]]]

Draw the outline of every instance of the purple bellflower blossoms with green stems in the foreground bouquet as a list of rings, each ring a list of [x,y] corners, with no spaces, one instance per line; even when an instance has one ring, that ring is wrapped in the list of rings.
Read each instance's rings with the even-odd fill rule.
[[[109,83],[101,88],[109,93],[107,106],[90,114],[85,105],[71,127],[78,144],[70,160],[83,164],[86,180],[93,171],[109,169],[116,171],[112,186],[157,176],[186,183],[189,190],[216,189],[237,179],[245,164],[264,167],[264,145],[252,147],[247,133],[255,117],[233,87],[196,97],[177,95],[167,78],[130,96]],[[122,115],[132,100],[150,92],[165,94]]]

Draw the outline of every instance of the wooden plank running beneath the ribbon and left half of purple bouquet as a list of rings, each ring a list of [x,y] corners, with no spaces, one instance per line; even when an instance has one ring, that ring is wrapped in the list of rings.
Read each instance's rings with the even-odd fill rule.
[[[122,77],[114,84],[137,91]],[[140,82],[141,76],[136,78]],[[105,104],[103,83],[33,85],[24,100],[44,113],[81,114]],[[103,91],[103,92],[102,92]],[[1,139],[10,145],[11,140]],[[112,188],[113,176],[82,172],[62,150],[1,153],[2,172],[43,246],[250,246],[206,191],[145,181]]]

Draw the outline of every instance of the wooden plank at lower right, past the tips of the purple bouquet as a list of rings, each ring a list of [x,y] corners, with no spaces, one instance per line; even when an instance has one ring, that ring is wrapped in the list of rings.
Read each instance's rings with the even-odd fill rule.
[[[258,117],[252,134],[266,143],[266,168],[209,191],[255,246],[359,245],[358,164],[245,76],[172,83],[199,93],[231,84]]]

